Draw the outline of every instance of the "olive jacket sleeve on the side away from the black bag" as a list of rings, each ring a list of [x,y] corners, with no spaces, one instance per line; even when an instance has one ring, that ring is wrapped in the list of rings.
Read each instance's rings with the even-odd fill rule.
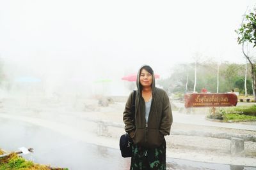
[[[163,113],[162,113],[161,123],[159,127],[159,132],[161,132],[161,134],[163,134],[164,136],[170,135],[172,122],[173,122],[173,118],[172,118],[171,104],[170,104],[168,95],[166,94],[166,92],[164,92]]]

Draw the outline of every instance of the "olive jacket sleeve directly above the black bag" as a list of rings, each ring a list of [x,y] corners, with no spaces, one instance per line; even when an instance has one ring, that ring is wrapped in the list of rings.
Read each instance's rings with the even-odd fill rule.
[[[130,136],[131,136],[131,132],[135,131],[135,125],[132,122],[132,96],[133,96],[133,92],[129,95],[127,99],[124,113],[123,113],[123,120],[125,125],[124,129],[125,129],[125,132],[130,134]]]

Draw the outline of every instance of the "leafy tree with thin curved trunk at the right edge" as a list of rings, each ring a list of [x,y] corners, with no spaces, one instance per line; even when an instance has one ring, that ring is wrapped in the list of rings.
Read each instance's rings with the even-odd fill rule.
[[[244,21],[245,19],[245,21]],[[244,57],[248,60],[251,66],[251,73],[252,73],[252,84],[253,84],[253,90],[256,91],[256,66],[255,62],[253,61],[253,57],[249,57],[244,52],[244,43],[252,43],[253,47],[256,46],[256,13],[249,13],[248,15],[245,15],[243,17],[243,21],[241,24],[241,27],[236,30],[236,33],[238,34],[237,42],[239,44],[242,44],[242,50]],[[254,100],[256,101],[256,96],[253,96]]]

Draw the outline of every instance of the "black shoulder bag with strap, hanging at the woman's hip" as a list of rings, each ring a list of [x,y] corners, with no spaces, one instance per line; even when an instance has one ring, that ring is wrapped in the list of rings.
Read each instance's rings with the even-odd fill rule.
[[[134,116],[135,116],[135,96],[136,96],[136,90],[133,90],[133,98],[132,98],[132,121],[134,122]],[[120,137],[119,146],[121,150],[122,157],[132,157],[132,145],[133,141],[132,138],[129,136],[129,134],[123,134]]]

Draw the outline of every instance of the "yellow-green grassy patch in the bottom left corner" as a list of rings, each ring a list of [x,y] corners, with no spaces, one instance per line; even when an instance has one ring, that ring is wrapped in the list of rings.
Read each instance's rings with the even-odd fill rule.
[[[0,155],[3,151],[0,149]],[[8,157],[0,158],[0,170],[68,170],[67,168],[52,168],[50,166],[35,164],[26,160],[16,153],[12,153]]]

